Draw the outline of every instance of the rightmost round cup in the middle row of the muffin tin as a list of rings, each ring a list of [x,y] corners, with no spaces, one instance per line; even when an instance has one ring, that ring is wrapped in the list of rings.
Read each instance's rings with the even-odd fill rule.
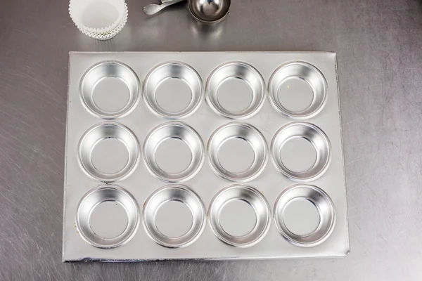
[[[312,181],[328,169],[331,145],[326,134],[314,124],[293,122],[276,132],[271,154],[281,174],[298,181]]]

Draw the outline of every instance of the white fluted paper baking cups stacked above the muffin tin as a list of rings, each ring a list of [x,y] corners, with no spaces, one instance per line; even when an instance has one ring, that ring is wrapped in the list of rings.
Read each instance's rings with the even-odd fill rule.
[[[127,22],[127,5],[124,0],[70,0],[69,14],[84,34],[110,39]]]

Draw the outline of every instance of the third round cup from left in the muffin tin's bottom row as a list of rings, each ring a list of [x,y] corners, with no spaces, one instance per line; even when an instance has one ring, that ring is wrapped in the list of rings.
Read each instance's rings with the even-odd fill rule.
[[[225,207],[236,201],[249,204],[255,212],[255,216],[243,218],[244,224],[250,224],[250,221],[253,223],[252,229],[246,234],[228,233],[223,226],[223,224],[227,226],[227,223],[223,223],[224,217],[222,216],[230,215],[224,211]],[[230,211],[232,214],[241,214],[243,209],[230,208]],[[260,242],[267,234],[271,221],[271,211],[267,200],[258,190],[245,185],[231,185],[220,190],[210,203],[208,216],[211,229],[219,240],[234,247],[251,247]],[[232,223],[234,222],[232,221]]]

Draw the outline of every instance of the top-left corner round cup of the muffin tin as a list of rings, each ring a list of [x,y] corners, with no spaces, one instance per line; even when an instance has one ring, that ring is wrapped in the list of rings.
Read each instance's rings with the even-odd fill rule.
[[[103,119],[124,117],[139,103],[139,79],[123,63],[98,63],[82,77],[80,94],[92,114]]]

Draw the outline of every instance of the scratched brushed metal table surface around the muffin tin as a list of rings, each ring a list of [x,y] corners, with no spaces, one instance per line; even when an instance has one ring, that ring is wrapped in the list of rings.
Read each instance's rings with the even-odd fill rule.
[[[0,280],[421,280],[422,1],[232,1],[216,28],[186,4],[129,0],[110,41],[68,1],[0,3]],[[338,259],[62,263],[69,51],[335,51],[350,255]]]

